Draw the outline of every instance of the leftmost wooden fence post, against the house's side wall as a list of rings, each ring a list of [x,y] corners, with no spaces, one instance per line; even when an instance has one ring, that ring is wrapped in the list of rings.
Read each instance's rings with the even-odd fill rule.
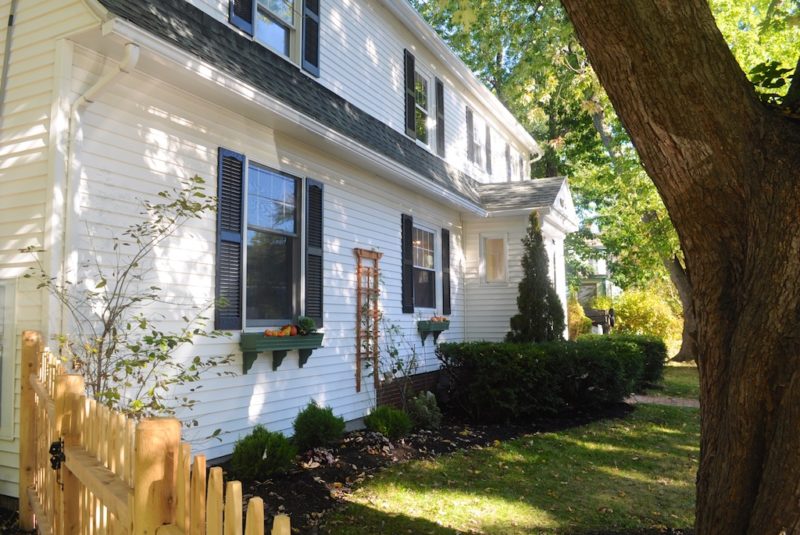
[[[19,525],[23,530],[33,529],[33,509],[28,500],[28,489],[33,487],[33,471],[36,452],[36,422],[31,374],[39,373],[42,358],[42,336],[37,331],[22,333],[22,377],[20,382],[19,421]]]

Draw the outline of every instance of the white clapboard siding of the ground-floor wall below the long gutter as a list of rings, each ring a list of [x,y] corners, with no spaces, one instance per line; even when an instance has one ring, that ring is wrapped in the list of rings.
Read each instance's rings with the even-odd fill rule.
[[[96,79],[104,60],[78,49],[74,63],[74,89],[80,91]],[[371,379],[365,380],[361,393],[355,391],[355,247],[384,253],[384,314],[388,321],[400,325],[406,340],[415,345],[419,371],[437,367],[433,344],[427,341],[423,347],[416,332],[416,321],[427,317],[401,312],[402,213],[412,214],[415,221],[432,229],[448,228],[451,232],[453,314],[451,329],[441,340],[463,338],[464,252],[456,210],[139,74],[110,87],[84,113],[82,126],[83,141],[76,147],[82,166],[82,221],[75,232],[83,256],[91,250],[109,253],[109,234],[137,220],[136,199],[152,198],[156,192],[176,185],[180,178],[199,174],[208,180],[209,193],[216,194],[219,146],[325,184],[324,347],[314,351],[303,369],[293,352],[277,371],[272,370],[269,355],[259,355],[247,375],[241,375],[236,334],[231,339],[198,340],[182,350],[178,358],[234,354],[228,367],[209,373],[202,388],[193,394],[199,403],[191,413],[181,414],[198,422],[197,427],[187,430],[196,451],[212,457],[228,454],[233,442],[257,423],[290,433],[297,412],[311,399],[330,405],[348,420],[363,416],[372,406]],[[437,230],[437,248],[438,241]],[[212,298],[215,247],[214,217],[193,222],[160,248],[152,272],[154,284],[168,288],[170,296],[180,301],[202,303]],[[437,291],[441,302],[441,284]],[[163,315],[166,325],[179,325],[179,310],[158,306],[153,313]],[[441,306],[436,313],[441,313]],[[405,347],[401,344],[403,350]],[[216,371],[237,375],[218,376]],[[221,442],[203,440],[217,428],[223,431]]]

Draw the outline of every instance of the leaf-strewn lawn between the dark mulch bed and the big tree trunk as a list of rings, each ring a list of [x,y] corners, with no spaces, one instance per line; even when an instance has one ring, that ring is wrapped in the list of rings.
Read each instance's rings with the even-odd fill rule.
[[[638,405],[622,420],[524,436],[368,480],[329,533],[581,533],[689,527],[696,409]]]

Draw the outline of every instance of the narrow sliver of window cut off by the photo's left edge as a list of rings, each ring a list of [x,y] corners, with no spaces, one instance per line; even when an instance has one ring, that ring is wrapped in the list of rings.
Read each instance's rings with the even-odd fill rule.
[[[0,437],[14,433],[14,286],[0,280]]]

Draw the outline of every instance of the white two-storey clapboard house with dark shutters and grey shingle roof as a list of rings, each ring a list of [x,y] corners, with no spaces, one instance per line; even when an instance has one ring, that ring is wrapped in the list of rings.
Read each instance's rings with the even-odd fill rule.
[[[96,236],[181,178],[209,179],[218,218],[181,230],[152,275],[176,300],[228,302],[215,322],[232,338],[192,348],[233,353],[238,372],[196,393],[188,438],[224,431],[197,441],[210,457],[259,422],[290,431],[310,398],[347,420],[369,410],[371,380],[355,384],[355,248],[383,254],[380,305],[421,372],[437,361],[419,319],[448,316],[440,340],[508,330],[531,210],[566,301],[566,181],[527,180],[536,142],[404,0],[0,0],[2,20],[12,5],[0,34],[0,494],[17,494],[20,333],[65,325],[22,278],[34,262],[19,249],[41,246],[49,271],[82,282],[89,252],[111,253]],[[305,366],[291,351],[243,375],[239,332],[301,314],[325,333]]]

